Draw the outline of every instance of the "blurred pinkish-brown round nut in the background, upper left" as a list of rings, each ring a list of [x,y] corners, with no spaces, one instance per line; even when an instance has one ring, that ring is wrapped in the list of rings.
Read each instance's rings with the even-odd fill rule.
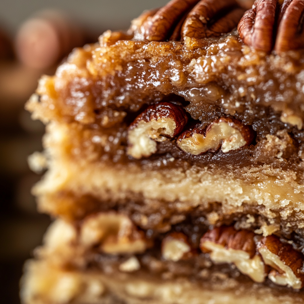
[[[96,37],[63,12],[44,10],[22,24],[16,35],[16,56],[25,66],[43,69],[57,64],[74,47]]]

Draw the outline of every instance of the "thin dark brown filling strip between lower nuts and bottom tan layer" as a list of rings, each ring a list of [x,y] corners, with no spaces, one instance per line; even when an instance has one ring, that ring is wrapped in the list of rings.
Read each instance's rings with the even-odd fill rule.
[[[99,255],[95,261],[88,266],[89,270],[101,269],[105,273],[115,276],[121,272],[119,266],[130,257]],[[140,270],[136,275],[149,279],[171,280],[178,278],[187,278],[191,282],[204,282],[213,285],[222,285],[228,289],[237,288],[241,285],[251,284],[252,280],[240,273],[233,264],[214,264],[206,257],[200,255],[188,259],[187,261],[164,261],[160,257],[155,257],[155,253],[136,256],[140,262]],[[272,292],[278,295],[288,292],[295,292],[294,289],[287,286],[280,286],[266,278],[263,283],[255,283],[257,288],[270,287]],[[211,287],[210,286],[210,287]]]

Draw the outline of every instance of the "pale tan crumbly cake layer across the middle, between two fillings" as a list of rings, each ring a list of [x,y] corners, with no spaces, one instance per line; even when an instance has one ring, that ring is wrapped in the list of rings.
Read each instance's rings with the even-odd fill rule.
[[[143,170],[134,163],[115,165],[74,158],[69,153],[70,142],[68,125],[48,126],[45,146],[51,158],[50,169],[34,188],[41,211],[68,216],[74,201],[65,208],[59,200],[66,193],[72,194],[74,200],[91,195],[101,202],[137,197],[146,203],[154,200],[165,206],[174,204],[173,208],[180,212],[218,202],[227,209],[244,205],[263,207],[263,214],[269,219],[275,218],[274,212],[285,220],[294,216],[293,220],[299,221],[298,228],[303,228],[304,186],[297,182],[293,171],[266,165],[227,166],[225,170],[195,165],[189,169]]]

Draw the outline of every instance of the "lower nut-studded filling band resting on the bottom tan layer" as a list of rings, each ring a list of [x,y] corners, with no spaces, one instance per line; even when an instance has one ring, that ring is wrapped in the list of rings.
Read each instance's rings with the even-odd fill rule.
[[[263,237],[233,226],[208,230],[208,226],[183,222],[168,233],[151,234],[113,211],[91,215],[79,228],[58,220],[47,233],[40,254],[81,268],[101,263],[100,267],[103,260],[112,260],[112,266],[121,272],[136,272],[149,265],[152,273],[163,278],[194,275],[199,279],[204,272],[211,275],[230,265],[231,275],[235,270],[244,275],[240,280],[250,278],[257,283],[273,282],[298,290],[304,286],[304,255],[290,241],[275,235]]]

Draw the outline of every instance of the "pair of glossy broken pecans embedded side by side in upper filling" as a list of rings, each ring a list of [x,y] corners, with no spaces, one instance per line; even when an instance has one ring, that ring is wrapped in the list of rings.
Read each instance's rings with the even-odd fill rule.
[[[149,157],[157,151],[157,142],[176,138],[182,131],[176,145],[192,155],[216,152],[219,148],[224,153],[239,150],[249,146],[255,135],[250,126],[237,119],[221,117],[205,128],[200,128],[201,123],[187,128],[187,122],[188,116],[180,105],[161,102],[148,107],[129,127],[127,154],[137,159]]]

